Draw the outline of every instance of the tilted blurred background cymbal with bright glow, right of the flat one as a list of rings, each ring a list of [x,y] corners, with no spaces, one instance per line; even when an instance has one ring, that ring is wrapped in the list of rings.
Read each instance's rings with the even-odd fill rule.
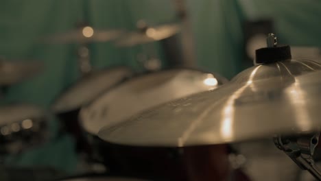
[[[141,45],[145,43],[152,43],[158,40],[163,40],[174,36],[180,32],[179,24],[159,25],[154,27],[146,27],[141,31],[129,32],[119,40],[116,45],[119,47],[132,47],[134,45]]]

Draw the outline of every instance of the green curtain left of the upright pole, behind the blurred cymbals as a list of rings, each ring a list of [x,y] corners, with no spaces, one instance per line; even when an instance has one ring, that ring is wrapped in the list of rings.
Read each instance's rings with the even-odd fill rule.
[[[174,21],[175,15],[169,1],[158,0],[139,3],[134,0],[1,1],[0,55],[12,60],[38,60],[45,66],[40,75],[10,87],[1,104],[27,102],[47,110],[64,88],[80,77],[75,56],[76,45],[43,45],[38,41],[40,37],[67,32],[73,29],[75,23],[83,20],[101,29],[134,30],[136,21],[140,19],[154,25]],[[161,56],[160,46],[156,43],[151,46]],[[136,54],[142,51],[140,46],[116,48],[112,43],[97,43],[90,47],[95,69],[128,65],[141,71],[136,61]],[[58,121],[54,117],[50,121],[51,132],[56,133]],[[73,147],[72,138],[64,135],[25,154],[11,156],[7,162],[16,165],[51,165],[73,172],[77,164]]]

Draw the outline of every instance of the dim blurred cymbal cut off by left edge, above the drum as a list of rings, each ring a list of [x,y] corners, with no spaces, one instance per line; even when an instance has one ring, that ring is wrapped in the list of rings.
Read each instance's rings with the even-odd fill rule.
[[[43,69],[40,62],[0,60],[0,85],[8,86],[32,77]]]

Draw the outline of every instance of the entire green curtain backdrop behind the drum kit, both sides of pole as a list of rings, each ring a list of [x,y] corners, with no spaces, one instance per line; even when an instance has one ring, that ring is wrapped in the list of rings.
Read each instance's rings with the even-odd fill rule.
[[[198,66],[233,77],[241,71],[242,28],[246,19],[272,17],[276,34],[283,43],[319,46],[321,3],[316,0],[187,0],[193,24]],[[67,32],[75,23],[86,20],[100,29],[135,28],[139,19],[151,25],[175,21],[171,0],[1,0],[0,56],[14,60],[43,62],[39,76],[9,88],[1,104],[29,102],[47,110],[53,100],[80,75],[75,57],[76,45],[42,45],[38,38]],[[156,54],[163,57],[158,43]],[[126,64],[142,71],[136,61],[141,46],[116,48],[112,43],[91,45],[93,67],[101,69]],[[163,60],[166,64],[168,60]],[[51,116],[51,132],[57,120]],[[53,136],[54,137],[54,136]],[[73,140],[67,135],[50,143],[8,158],[17,165],[52,165],[73,172],[77,157]]]

